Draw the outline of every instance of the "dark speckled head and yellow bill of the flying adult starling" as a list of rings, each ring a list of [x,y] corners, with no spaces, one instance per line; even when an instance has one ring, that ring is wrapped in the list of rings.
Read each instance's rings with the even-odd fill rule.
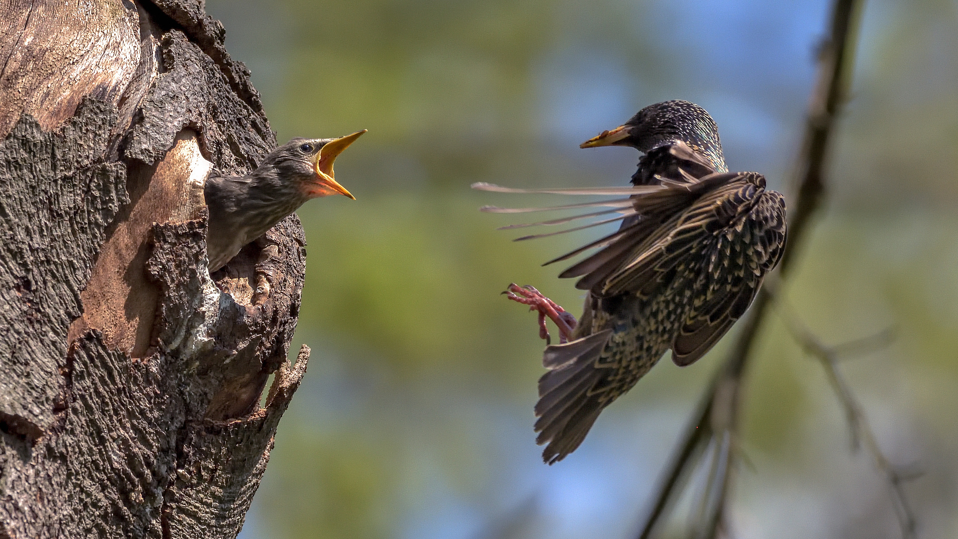
[[[724,168],[719,128],[704,108],[688,101],[664,101],[639,110],[616,129],[603,131],[580,145],[631,146],[649,152],[673,140],[681,140],[711,160],[717,170]]]

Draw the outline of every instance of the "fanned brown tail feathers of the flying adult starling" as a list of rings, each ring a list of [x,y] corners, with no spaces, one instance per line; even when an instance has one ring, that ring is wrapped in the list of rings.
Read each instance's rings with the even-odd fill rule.
[[[536,443],[548,442],[542,458],[549,464],[572,453],[595,423],[604,405],[591,394],[604,376],[596,367],[612,334],[602,332],[565,344],[546,347],[542,363],[549,371],[539,379],[536,403]]]

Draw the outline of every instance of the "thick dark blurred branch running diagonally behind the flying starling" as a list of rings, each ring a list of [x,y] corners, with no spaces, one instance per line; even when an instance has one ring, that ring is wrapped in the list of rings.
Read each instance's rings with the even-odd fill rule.
[[[802,239],[808,232],[811,216],[820,206],[825,194],[823,171],[833,127],[851,80],[855,52],[853,37],[862,4],[861,0],[834,0],[830,33],[818,51],[818,77],[811,95],[805,138],[798,156],[800,168],[796,177],[800,179],[797,198],[789,211],[791,222],[788,225],[788,244],[779,267],[782,276],[787,275],[792,268],[795,251],[801,246]],[[720,455],[719,461],[711,465],[708,482],[715,481],[718,486],[714,495],[707,492],[702,497],[703,505],[698,513],[701,517],[698,519],[695,536],[714,539],[722,528],[721,518],[731,484],[731,459],[737,453],[742,375],[770,298],[771,295],[764,290],[759,293],[749,314],[742,320],[741,332],[728,359],[703,396],[682,443],[676,448],[673,462],[656,492],[649,518],[639,534],[640,539],[648,539],[661,524],[669,513],[668,509],[678,500],[684,479],[696,468],[697,457],[704,453],[713,441],[718,443],[714,447],[715,451],[720,451]],[[721,447],[727,449],[721,451]]]

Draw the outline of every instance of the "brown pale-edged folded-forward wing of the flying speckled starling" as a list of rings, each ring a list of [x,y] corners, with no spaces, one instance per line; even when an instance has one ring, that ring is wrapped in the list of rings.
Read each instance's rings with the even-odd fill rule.
[[[603,250],[560,276],[601,296],[656,289],[686,275],[691,311],[673,340],[673,361],[694,363],[741,317],[775,268],[786,241],[785,200],[756,173],[704,176],[688,189],[634,198],[642,216]],[[575,251],[574,251],[575,252]]]

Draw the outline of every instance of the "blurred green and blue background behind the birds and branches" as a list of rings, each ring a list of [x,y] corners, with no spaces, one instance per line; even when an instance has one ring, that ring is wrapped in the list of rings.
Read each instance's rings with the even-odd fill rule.
[[[639,154],[579,150],[644,105],[687,99],[733,170],[785,190],[825,0],[208,0],[280,141],[369,129],[336,163],[356,196],[308,202],[303,309],[313,350],[242,539],[572,539],[634,535],[724,345],[668,359],[572,456],[539,459],[534,284],[601,231],[512,243],[472,192],[625,184]],[[907,485],[921,537],[958,536],[958,3],[867,2],[829,201],[787,301],[828,343],[897,328],[842,363]],[[558,199],[547,201],[559,202]],[[508,216],[507,216],[508,217]],[[733,330],[735,331],[735,330]],[[725,342],[724,344],[727,344]],[[772,316],[751,363],[733,536],[884,538],[882,478],[850,449],[820,366]]]

